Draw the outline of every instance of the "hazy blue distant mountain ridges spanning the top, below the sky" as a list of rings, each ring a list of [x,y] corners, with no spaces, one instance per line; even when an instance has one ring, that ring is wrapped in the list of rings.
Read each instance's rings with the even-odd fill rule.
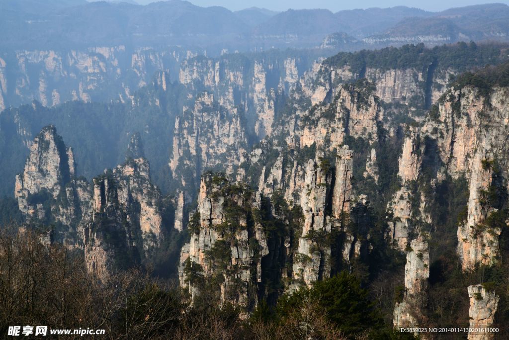
[[[186,45],[254,50],[316,47],[329,34],[343,32],[360,42],[344,46],[507,39],[509,7],[489,4],[427,12],[415,8],[329,10],[259,8],[232,12],[172,0],[146,6],[132,2],[85,0],[7,0],[0,4],[3,49]]]

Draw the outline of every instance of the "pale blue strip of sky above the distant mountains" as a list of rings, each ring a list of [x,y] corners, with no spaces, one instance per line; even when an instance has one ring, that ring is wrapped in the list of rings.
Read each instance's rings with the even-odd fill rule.
[[[155,2],[154,0],[135,0],[138,4],[149,4]],[[190,2],[197,6],[222,6],[232,11],[237,11],[249,7],[267,8],[273,11],[286,11],[289,8],[303,9],[303,8],[326,8],[332,12],[340,10],[350,10],[355,8],[370,8],[370,7],[394,7],[394,6],[407,6],[417,7],[428,11],[441,11],[451,7],[463,7],[470,5],[487,4],[482,0],[190,0]],[[494,1],[502,4],[509,4],[509,0]]]

